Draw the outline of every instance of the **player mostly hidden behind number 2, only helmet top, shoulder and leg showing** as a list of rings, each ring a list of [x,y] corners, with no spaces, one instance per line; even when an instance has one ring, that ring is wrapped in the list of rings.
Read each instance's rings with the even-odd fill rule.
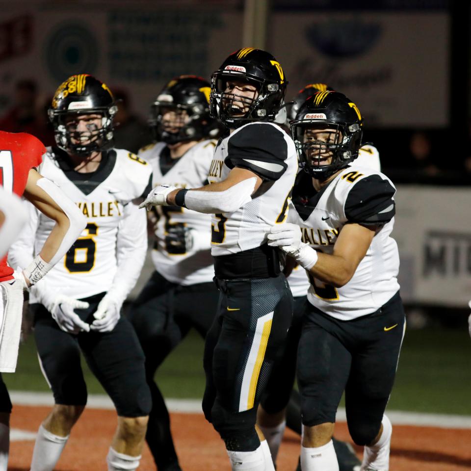
[[[333,91],[325,83],[310,83],[300,90],[287,104],[287,126],[296,118],[300,106],[309,97],[326,90]],[[366,166],[379,172],[381,165],[377,149],[371,144],[362,145],[358,157],[355,159],[355,165]],[[305,172],[298,173],[294,186],[295,193],[302,195],[303,184],[306,184],[308,189],[312,186],[312,182],[307,181],[306,176]],[[290,215],[294,214],[295,212],[290,213]],[[294,300],[293,319],[288,331],[285,352],[273,368],[257,412],[257,424],[261,427],[264,436],[267,437],[274,462],[276,462],[285,426],[288,425],[289,428],[301,434],[301,401],[299,393],[292,390],[292,386],[295,377],[296,352],[301,335],[302,313],[310,286],[306,270],[299,265],[295,266],[288,276],[288,284]],[[361,463],[351,445],[335,438],[332,440],[339,460],[340,471],[358,470]]]

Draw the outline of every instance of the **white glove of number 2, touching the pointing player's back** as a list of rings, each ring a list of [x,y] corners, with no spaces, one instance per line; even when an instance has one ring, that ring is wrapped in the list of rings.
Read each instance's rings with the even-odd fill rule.
[[[317,252],[301,241],[301,229],[297,224],[285,222],[272,226],[267,238],[270,247],[280,247],[306,270],[317,262]]]

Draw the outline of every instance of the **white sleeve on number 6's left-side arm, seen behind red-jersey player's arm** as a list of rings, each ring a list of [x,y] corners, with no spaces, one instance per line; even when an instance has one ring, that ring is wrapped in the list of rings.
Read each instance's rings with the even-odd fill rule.
[[[27,222],[15,242],[8,250],[8,263],[13,268],[27,266],[34,257],[34,240],[39,225],[39,211],[29,202],[23,201]]]

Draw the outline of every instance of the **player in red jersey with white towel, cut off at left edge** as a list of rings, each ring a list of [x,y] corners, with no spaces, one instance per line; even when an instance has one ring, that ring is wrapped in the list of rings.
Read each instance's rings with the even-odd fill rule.
[[[38,174],[44,145],[31,134],[0,131],[0,208],[4,220],[1,226],[0,259],[0,371],[13,372],[18,358],[21,332],[23,291],[46,275],[70,248],[85,227],[79,209],[60,189]],[[26,222],[26,211],[15,196],[25,196],[38,210],[51,218],[52,231],[38,246],[37,255],[25,257],[26,267],[13,270],[4,253]],[[11,206],[10,206],[11,204]],[[10,224],[12,221],[13,226]],[[9,419],[11,401],[0,375],[0,470],[8,464]]]

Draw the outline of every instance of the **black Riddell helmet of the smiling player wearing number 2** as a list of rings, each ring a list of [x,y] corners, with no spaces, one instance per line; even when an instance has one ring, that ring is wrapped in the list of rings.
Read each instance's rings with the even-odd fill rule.
[[[300,106],[291,122],[291,133],[299,166],[316,180],[324,181],[358,157],[362,145],[363,119],[360,110],[345,95],[316,92]],[[333,130],[329,142],[310,138],[309,131]],[[330,163],[322,164],[326,155]]]

